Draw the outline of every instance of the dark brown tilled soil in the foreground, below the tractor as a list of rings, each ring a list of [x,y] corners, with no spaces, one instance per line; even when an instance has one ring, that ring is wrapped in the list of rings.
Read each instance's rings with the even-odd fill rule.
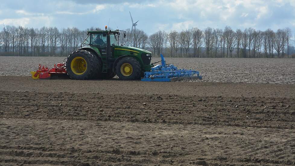
[[[0,84],[0,165],[295,164],[293,84]]]

